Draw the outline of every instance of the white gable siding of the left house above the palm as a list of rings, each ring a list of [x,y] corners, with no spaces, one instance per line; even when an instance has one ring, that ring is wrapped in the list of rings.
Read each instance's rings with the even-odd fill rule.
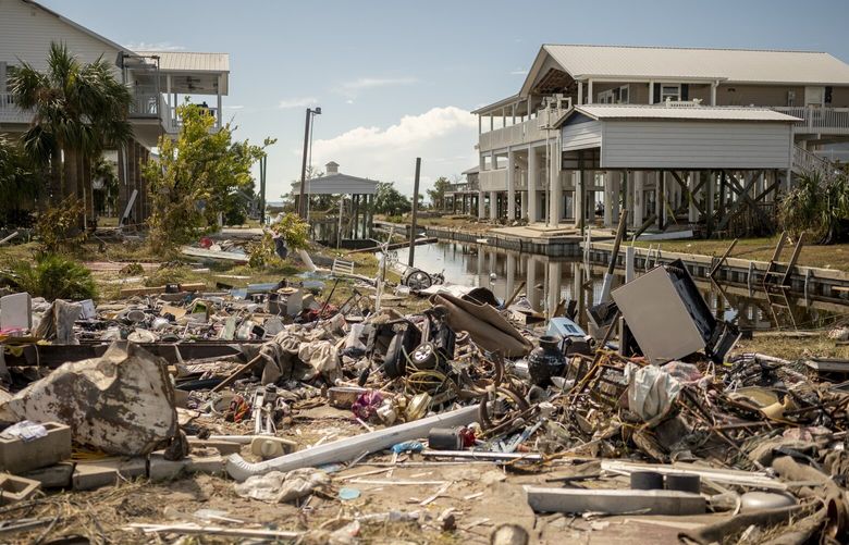
[[[82,62],[99,57],[114,65],[118,49],[21,0],[0,0],[0,61],[17,65],[17,59],[45,70],[51,41],[63,41]],[[118,72],[118,67],[115,67]]]

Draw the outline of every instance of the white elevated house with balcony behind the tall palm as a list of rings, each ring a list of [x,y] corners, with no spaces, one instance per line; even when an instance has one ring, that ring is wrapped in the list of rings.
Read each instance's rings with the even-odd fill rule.
[[[127,116],[133,138],[106,150],[104,157],[119,175],[119,210],[123,212],[132,201],[127,223],[140,223],[150,214],[142,164],[161,135],[176,137],[182,123],[176,107],[186,99],[214,117],[211,131],[221,128],[230,58],[226,53],[131,50],[33,0],[0,0],[0,134],[15,137],[29,127],[33,112],[14,103],[8,76],[22,61],[45,70],[52,41],[65,44],[82,63],[100,58],[110,61],[115,78],[130,88],[133,101]],[[83,184],[90,186],[90,172],[82,165],[81,171]],[[90,198],[90,191],[81,188],[78,193],[83,199]]]

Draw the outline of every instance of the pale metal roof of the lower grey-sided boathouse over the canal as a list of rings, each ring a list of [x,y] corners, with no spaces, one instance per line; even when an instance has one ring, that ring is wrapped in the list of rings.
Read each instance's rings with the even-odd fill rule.
[[[582,104],[573,112],[594,120],[773,121],[795,123],[799,117],[767,108],[687,106]]]

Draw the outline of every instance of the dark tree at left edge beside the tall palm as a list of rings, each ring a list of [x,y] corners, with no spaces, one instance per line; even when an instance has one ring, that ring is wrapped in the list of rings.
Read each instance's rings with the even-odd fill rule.
[[[40,188],[37,164],[19,143],[0,136],[0,225],[29,226]]]

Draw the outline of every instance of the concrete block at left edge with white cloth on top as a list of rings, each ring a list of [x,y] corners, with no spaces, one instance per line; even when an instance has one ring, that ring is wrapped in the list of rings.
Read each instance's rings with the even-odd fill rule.
[[[59,422],[42,425],[47,436],[37,439],[0,437],[0,471],[19,474],[71,458],[71,429]]]

